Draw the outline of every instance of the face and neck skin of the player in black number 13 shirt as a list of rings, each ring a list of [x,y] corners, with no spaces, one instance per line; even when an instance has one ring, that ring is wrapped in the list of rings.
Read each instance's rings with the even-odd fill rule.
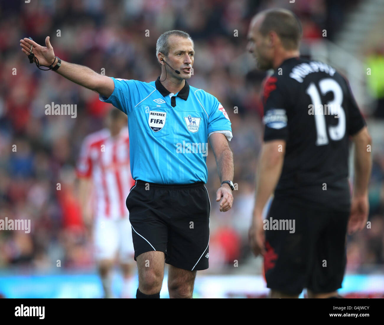
[[[269,44],[268,36],[263,36],[259,31],[262,20],[262,16],[256,16],[251,21],[247,37],[247,50],[256,59],[258,69],[268,70],[273,68],[273,50]]]

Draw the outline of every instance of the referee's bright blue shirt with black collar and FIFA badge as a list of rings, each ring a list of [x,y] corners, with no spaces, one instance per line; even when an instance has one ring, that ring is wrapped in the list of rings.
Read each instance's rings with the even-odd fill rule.
[[[112,78],[111,96],[99,96],[128,115],[132,177],[159,184],[207,183],[209,135],[232,139],[227,112],[216,97],[186,80],[172,94],[159,78],[149,83]]]

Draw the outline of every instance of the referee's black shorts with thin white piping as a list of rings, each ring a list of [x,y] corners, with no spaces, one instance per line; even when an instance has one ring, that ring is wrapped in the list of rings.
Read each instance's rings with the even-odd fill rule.
[[[136,181],[127,196],[135,261],[164,252],[167,264],[189,271],[208,269],[210,201],[203,182],[162,185]]]

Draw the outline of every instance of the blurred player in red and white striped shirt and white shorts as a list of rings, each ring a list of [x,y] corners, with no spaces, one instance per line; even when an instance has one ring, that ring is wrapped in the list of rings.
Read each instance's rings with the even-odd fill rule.
[[[88,135],[83,142],[77,165],[79,200],[85,223],[93,224],[95,257],[104,297],[113,297],[111,271],[118,253],[124,276],[121,297],[129,298],[134,249],[125,199],[134,180],[129,164],[127,117],[113,108],[106,124],[108,128]]]

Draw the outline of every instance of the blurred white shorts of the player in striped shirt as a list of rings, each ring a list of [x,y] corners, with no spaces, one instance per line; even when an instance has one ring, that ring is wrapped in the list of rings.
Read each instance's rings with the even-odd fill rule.
[[[132,228],[129,218],[111,220],[98,218],[94,224],[95,259],[114,259],[119,253],[119,262],[134,261],[135,254],[132,242]]]

